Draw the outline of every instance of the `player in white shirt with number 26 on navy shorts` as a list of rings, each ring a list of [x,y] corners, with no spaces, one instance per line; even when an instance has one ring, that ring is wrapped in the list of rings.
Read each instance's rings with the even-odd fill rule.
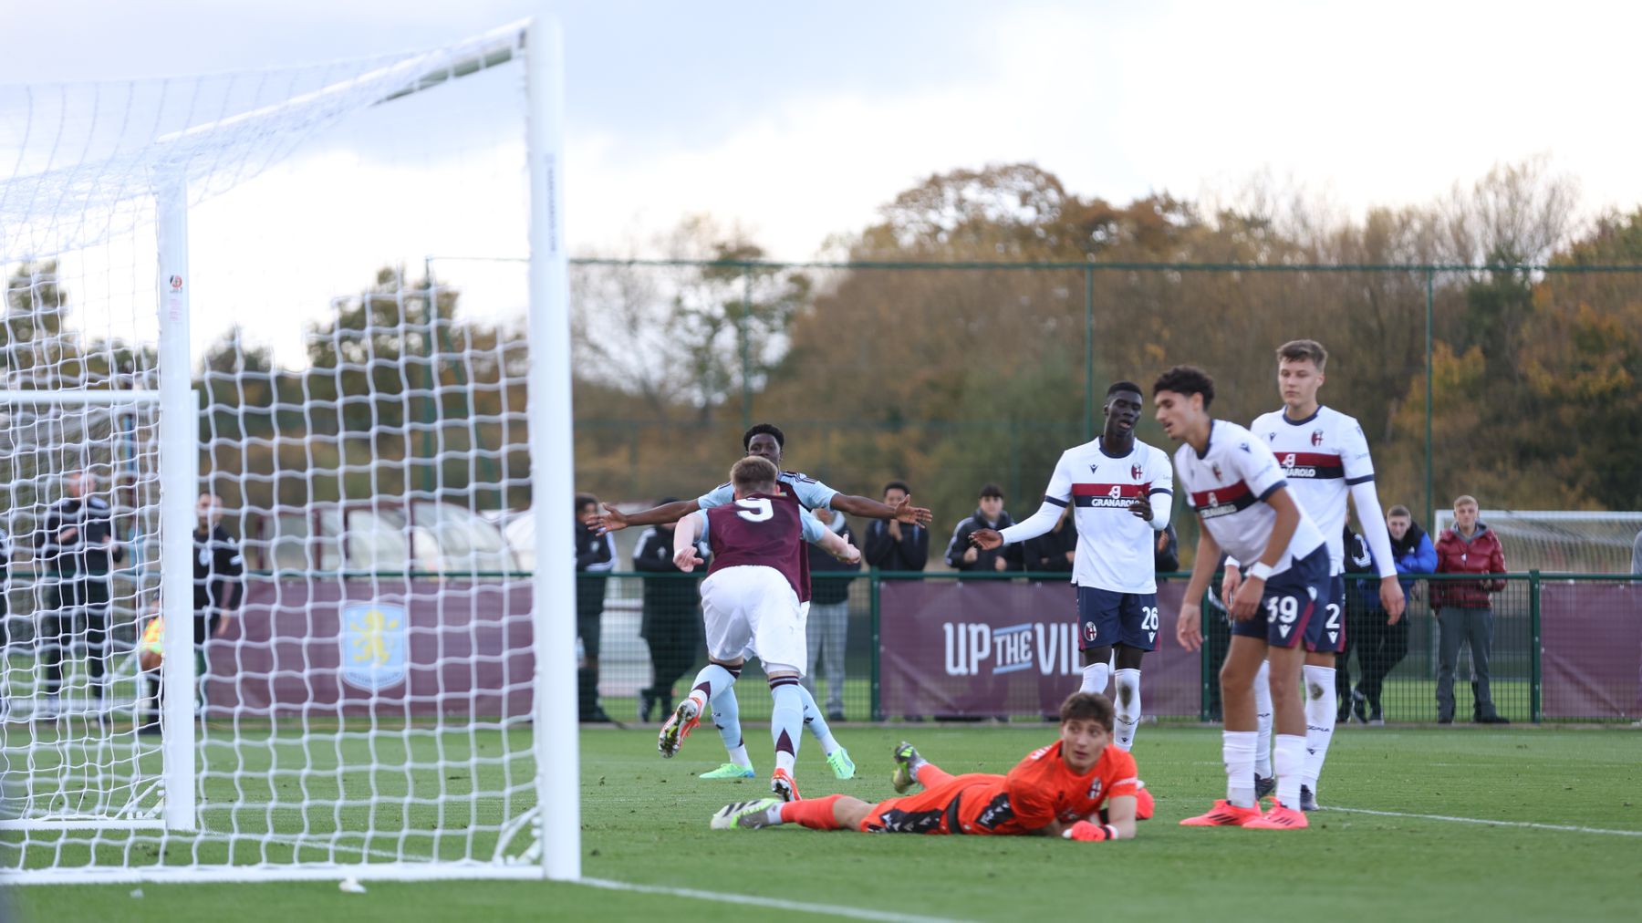
[[[1054,465],[1043,506],[1030,519],[1003,529],[977,529],[980,549],[1036,539],[1054,527],[1066,504],[1077,516],[1079,647],[1082,691],[1103,693],[1117,647],[1117,746],[1135,746],[1140,724],[1140,662],[1158,649],[1158,580],[1153,570],[1158,532],[1169,527],[1174,473],[1161,448],[1135,439],[1140,386],[1118,381],[1107,389],[1107,429],[1094,442],[1067,448]],[[1153,507],[1151,498],[1163,494]]]

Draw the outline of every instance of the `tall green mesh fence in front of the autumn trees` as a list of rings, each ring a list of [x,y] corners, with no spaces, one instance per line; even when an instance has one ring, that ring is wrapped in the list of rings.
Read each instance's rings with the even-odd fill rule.
[[[1624,435],[1642,417],[1606,374],[1642,376],[1642,266],[578,259],[571,278],[578,488],[609,499],[695,496],[768,420],[790,468],[867,496],[908,480],[938,532],[987,481],[1021,516],[1100,430],[1108,383],[1200,365],[1215,414],[1248,422],[1279,406],[1274,348],[1310,337],[1383,504],[1427,527],[1458,494],[1642,509]],[[1149,414],[1138,435],[1172,447]]]

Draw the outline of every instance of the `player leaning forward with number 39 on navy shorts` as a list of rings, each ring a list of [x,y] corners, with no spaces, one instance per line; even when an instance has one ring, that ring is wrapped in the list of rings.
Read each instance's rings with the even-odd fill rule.
[[[1158,422],[1174,452],[1174,473],[1187,503],[1202,521],[1192,580],[1176,624],[1187,650],[1204,642],[1202,606],[1220,549],[1254,562],[1228,601],[1232,649],[1220,667],[1225,709],[1222,749],[1227,797],[1184,826],[1246,826],[1297,829],[1307,826],[1296,806],[1305,769],[1305,714],[1294,682],[1300,675],[1300,639],[1315,608],[1328,593],[1328,545],[1305,511],[1294,503],[1282,468],[1266,443],[1246,429],[1209,416],[1213,381],[1192,366],[1174,366],[1151,386]],[[1264,613],[1261,613],[1264,609]],[[1259,618],[1264,614],[1264,618]],[[1254,798],[1254,675],[1271,657],[1271,700],[1277,726],[1277,801],[1266,813]]]

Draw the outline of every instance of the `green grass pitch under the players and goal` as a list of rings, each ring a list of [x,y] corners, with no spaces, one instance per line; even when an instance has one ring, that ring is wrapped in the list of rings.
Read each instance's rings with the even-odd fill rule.
[[[908,726],[844,724],[839,737],[860,765],[834,782],[813,742],[800,757],[800,783],[816,797],[890,795],[890,747],[911,737],[929,759],[954,770],[1003,772],[1054,737],[1051,724]],[[350,767],[366,759],[499,752],[499,734],[350,739],[338,749],[286,739],[253,739],[241,751],[274,759],[330,754],[309,780],[309,797],[355,795],[368,778]],[[760,770],[767,737],[749,728]],[[709,831],[713,810],[760,797],[765,780],[703,782],[695,774],[721,759],[711,731],[691,737],[672,762],[655,754],[652,729],[596,729],[581,736],[583,872],[588,877],[764,895],[816,905],[961,920],[1033,916],[1121,920],[1218,920],[1307,915],[1327,920],[1634,920],[1642,893],[1642,836],[1484,826],[1414,816],[1345,811],[1312,815],[1305,833],[1189,829],[1223,790],[1218,729],[1144,726],[1135,755],[1158,797],[1158,818],[1131,843],[1072,844],[1030,838],[911,838],[814,833],[798,828]],[[524,741],[509,741],[511,747]],[[397,749],[396,749],[397,747]],[[1619,728],[1450,729],[1350,728],[1335,737],[1320,798],[1330,806],[1407,815],[1447,815],[1642,833],[1642,734]],[[340,770],[340,772],[338,772]],[[419,793],[432,770],[378,770],[396,797]],[[489,772],[489,770],[486,770]],[[255,772],[251,774],[255,775]],[[447,775],[460,775],[448,772]],[[494,785],[501,775],[483,778]],[[447,780],[461,785],[465,780]],[[245,818],[277,793],[241,780]],[[404,820],[401,820],[404,818]],[[425,826],[437,808],[394,811],[396,831]],[[276,816],[277,831],[292,818]],[[266,823],[266,821],[264,821]],[[333,823],[330,811],[310,828]],[[342,815],[360,829],[363,815]],[[381,823],[381,821],[379,821]],[[396,826],[397,824],[397,826]],[[410,841],[420,849],[435,841]],[[381,846],[383,843],[378,843]],[[202,852],[205,856],[205,852]],[[33,920],[724,920],[768,916],[768,908],[693,898],[622,893],[529,882],[374,884],[366,895],[327,884],[130,885],[15,889],[16,910]],[[803,913],[775,912],[806,918]]]

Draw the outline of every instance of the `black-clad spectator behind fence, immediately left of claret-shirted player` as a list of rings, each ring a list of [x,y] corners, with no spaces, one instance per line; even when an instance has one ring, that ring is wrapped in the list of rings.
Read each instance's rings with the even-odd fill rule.
[[[678,498],[663,498],[657,506],[668,503],[678,503]],[[639,721],[657,714],[665,718],[673,711],[673,685],[696,665],[696,654],[706,644],[701,636],[701,576],[706,568],[685,575],[673,563],[677,526],[663,522],[645,529],[632,552],[632,568],[645,575],[639,636],[650,647],[650,687],[639,690]],[[713,552],[706,542],[696,542],[696,555],[708,560]]]

